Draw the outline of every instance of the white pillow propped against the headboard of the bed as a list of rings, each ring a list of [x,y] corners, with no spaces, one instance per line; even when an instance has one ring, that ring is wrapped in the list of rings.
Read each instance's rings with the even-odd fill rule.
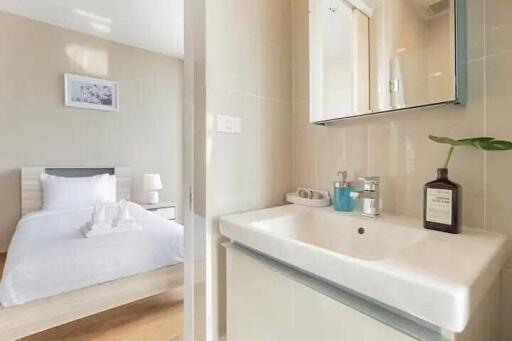
[[[116,176],[101,174],[65,178],[41,174],[43,210],[58,210],[116,202]]]

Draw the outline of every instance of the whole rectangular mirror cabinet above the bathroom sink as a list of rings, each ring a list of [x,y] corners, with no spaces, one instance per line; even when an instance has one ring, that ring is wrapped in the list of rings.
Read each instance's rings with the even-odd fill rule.
[[[310,121],[463,104],[462,0],[310,0]]]

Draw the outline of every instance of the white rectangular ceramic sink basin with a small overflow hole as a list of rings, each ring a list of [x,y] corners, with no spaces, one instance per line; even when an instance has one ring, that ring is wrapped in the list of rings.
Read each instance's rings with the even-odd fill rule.
[[[221,233],[344,288],[461,332],[502,268],[503,235],[287,205],[221,218]]]

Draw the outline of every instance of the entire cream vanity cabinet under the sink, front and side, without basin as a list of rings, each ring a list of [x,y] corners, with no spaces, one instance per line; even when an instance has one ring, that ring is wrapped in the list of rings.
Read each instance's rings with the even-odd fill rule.
[[[499,278],[462,333],[409,320],[391,308],[234,243],[227,248],[227,341],[499,340]]]

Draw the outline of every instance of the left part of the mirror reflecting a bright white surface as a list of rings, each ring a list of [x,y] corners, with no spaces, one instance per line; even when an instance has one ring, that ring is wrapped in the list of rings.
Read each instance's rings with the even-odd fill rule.
[[[368,17],[340,0],[310,2],[313,119],[329,120],[370,109]]]

